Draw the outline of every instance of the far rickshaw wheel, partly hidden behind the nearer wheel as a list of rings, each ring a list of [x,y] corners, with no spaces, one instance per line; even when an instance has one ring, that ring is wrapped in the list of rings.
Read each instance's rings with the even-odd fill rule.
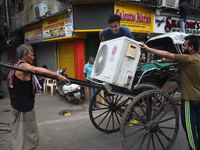
[[[96,101],[99,97],[103,101]],[[94,127],[105,133],[113,133],[120,130],[120,122],[128,101],[132,98],[110,94],[104,90],[97,90],[89,106],[89,116]]]

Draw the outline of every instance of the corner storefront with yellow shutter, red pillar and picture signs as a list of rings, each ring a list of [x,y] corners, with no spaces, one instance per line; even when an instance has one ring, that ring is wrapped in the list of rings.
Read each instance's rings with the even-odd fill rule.
[[[56,71],[66,68],[69,77],[83,79],[86,33],[73,34],[72,13],[66,12],[42,20],[24,29],[25,43],[33,45],[37,66],[47,65]],[[82,67],[81,67],[82,66]]]

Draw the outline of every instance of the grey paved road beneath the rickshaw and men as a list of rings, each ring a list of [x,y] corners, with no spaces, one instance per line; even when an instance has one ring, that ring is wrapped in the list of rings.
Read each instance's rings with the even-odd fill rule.
[[[0,122],[10,120],[9,95],[5,89],[4,83],[4,99],[0,99]],[[60,101],[57,94],[53,97],[50,93],[36,95],[35,109],[40,136],[36,150],[122,150],[120,132],[105,134],[96,130],[89,119],[88,106],[88,101],[79,105],[73,105],[66,100]],[[60,115],[63,110],[72,115]],[[188,150],[185,143],[185,134],[180,123],[179,134],[172,150]],[[0,150],[11,150],[11,147],[10,133],[0,131]]]

